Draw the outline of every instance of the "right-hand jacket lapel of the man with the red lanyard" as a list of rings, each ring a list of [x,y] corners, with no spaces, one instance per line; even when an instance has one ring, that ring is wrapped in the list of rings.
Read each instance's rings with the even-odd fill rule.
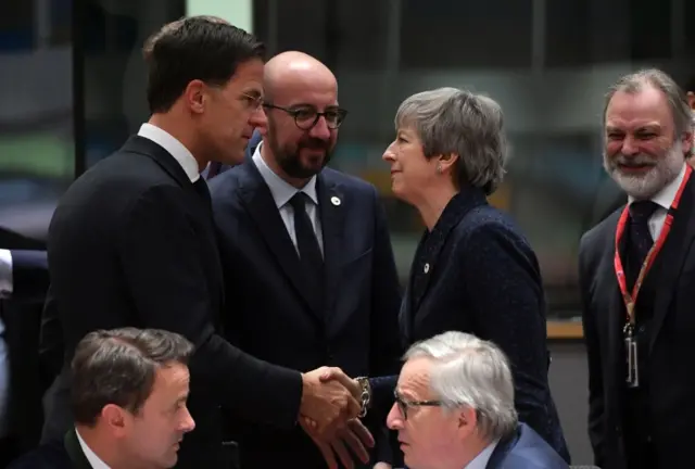
[[[691,176],[684,190],[678,212],[673,216],[673,225],[661,252],[654,262],[653,269],[658,272],[654,300],[654,328],[649,337],[649,352],[664,325],[673,294],[678,288],[678,278],[690,246],[695,240],[695,188]],[[639,301],[639,300],[637,300]]]

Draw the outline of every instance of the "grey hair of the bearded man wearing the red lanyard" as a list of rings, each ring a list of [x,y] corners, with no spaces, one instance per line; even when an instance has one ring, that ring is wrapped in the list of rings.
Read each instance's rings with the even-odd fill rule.
[[[606,101],[604,103],[604,127],[606,126],[608,104],[610,104],[610,100],[618,91],[636,94],[643,91],[645,87],[653,87],[666,96],[671,115],[673,116],[675,127],[674,137],[693,131],[693,111],[687,104],[687,96],[673,78],[657,68],[647,68],[624,75],[610,87],[606,93]]]

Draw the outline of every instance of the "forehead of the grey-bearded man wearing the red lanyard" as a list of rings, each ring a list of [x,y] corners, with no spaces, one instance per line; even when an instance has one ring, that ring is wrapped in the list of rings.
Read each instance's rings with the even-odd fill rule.
[[[666,94],[654,87],[628,93],[617,91],[606,109],[606,126],[632,129],[642,126],[672,127],[673,116]]]

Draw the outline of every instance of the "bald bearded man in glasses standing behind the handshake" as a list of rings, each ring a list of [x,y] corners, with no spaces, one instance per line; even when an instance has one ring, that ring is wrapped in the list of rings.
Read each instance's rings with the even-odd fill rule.
[[[229,270],[225,294],[240,299],[225,315],[227,337],[292,369],[328,365],[351,377],[393,375],[401,297],[379,194],[326,167],[346,114],[336,77],[312,56],[286,52],[266,64],[264,88],[263,142],[254,138],[245,162],[211,181]],[[358,381],[348,385],[368,398],[366,379]],[[371,465],[392,461],[384,410],[372,408],[364,420],[378,441]],[[343,434],[332,449],[319,451],[299,428],[245,420],[231,421],[230,432],[241,467],[251,469],[318,469],[326,467],[321,451],[331,460],[332,451],[346,455],[344,443],[355,441]]]

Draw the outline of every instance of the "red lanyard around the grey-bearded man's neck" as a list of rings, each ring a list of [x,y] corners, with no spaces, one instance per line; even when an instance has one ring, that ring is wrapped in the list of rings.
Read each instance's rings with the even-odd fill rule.
[[[666,238],[669,236],[671,231],[671,225],[673,225],[673,213],[678,208],[678,204],[681,201],[681,195],[683,195],[683,189],[685,189],[685,183],[691,177],[691,173],[693,173],[693,168],[690,164],[685,165],[685,176],[683,177],[683,181],[681,186],[678,188],[678,192],[675,193],[675,198],[673,199],[673,203],[671,204],[671,208],[666,215],[666,221],[664,223],[664,228],[661,228],[661,233],[659,238],[656,240],[647,256],[644,258],[642,263],[642,268],[640,269],[640,275],[634,282],[634,287],[632,288],[632,294],[628,291],[628,283],[626,280],[626,274],[622,268],[622,261],[620,259],[620,240],[626,231],[626,225],[628,224],[628,217],[630,216],[629,206],[626,206],[620,215],[620,219],[618,220],[618,227],[616,228],[616,255],[614,257],[614,265],[616,267],[616,277],[618,277],[618,284],[620,286],[620,293],[622,294],[622,301],[626,304],[626,310],[628,313],[628,324],[630,326],[634,326],[634,305],[637,301],[637,293],[640,293],[640,287],[642,287],[642,282],[646,277],[647,272],[654,265],[654,261],[656,259],[657,254],[664,248],[664,243],[666,242]]]

